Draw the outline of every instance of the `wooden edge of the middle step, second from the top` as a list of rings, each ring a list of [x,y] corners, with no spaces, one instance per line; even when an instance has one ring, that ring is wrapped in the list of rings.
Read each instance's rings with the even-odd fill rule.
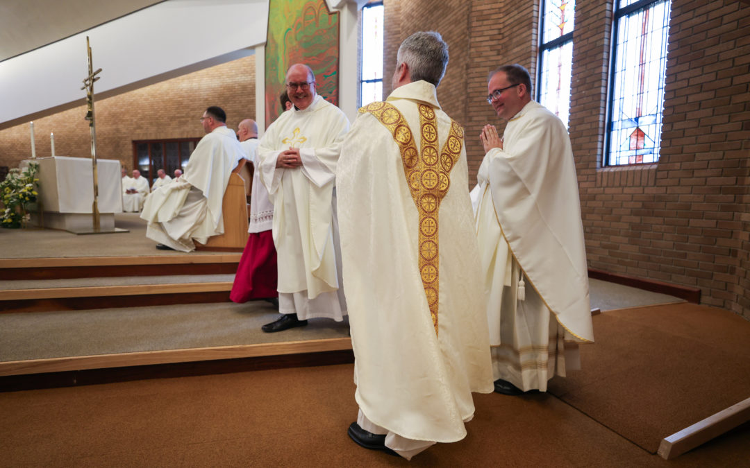
[[[172,283],[166,285],[87,286],[81,288],[11,289],[0,291],[3,301],[62,299],[65,297],[144,296],[153,294],[232,291],[232,282]]]

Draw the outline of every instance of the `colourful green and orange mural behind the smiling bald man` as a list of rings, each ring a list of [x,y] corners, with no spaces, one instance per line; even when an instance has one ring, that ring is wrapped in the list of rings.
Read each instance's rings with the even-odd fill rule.
[[[271,0],[266,40],[266,126],[281,114],[279,95],[291,64],[308,64],[317,93],[338,106],[338,13],[326,0]]]

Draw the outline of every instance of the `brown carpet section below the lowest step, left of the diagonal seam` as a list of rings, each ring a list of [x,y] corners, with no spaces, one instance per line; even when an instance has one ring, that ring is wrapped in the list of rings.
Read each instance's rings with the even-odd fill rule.
[[[353,365],[0,394],[0,466],[740,466],[748,431],[662,461],[549,394],[476,395],[468,436],[411,463],[356,446]]]

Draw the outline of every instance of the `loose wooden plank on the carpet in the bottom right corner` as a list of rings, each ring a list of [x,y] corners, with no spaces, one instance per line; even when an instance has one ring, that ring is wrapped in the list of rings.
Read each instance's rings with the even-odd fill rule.
[[[733,404],[726,410],[721,410],[669,437],[664,437],[657,453],[664,460],[672,460],[748,421],[750,421],[750,398]]]

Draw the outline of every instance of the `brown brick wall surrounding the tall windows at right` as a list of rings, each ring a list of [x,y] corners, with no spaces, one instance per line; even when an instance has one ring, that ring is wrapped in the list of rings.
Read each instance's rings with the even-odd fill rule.
[[[484,101],[487,73],[519,63],[535,76],[538,2],[385,5],[386,78],[414,31],[449,43],[438,97],[466,128],[473,183],[484,156],[475,136],[487,123],[502,130]],[[672,1],[661,157],[650,165],[601,165],[611,21],[611,2],[577,1],[570,135],[589,267],[697,287],[703,303],[750,319],[750,5]]]

